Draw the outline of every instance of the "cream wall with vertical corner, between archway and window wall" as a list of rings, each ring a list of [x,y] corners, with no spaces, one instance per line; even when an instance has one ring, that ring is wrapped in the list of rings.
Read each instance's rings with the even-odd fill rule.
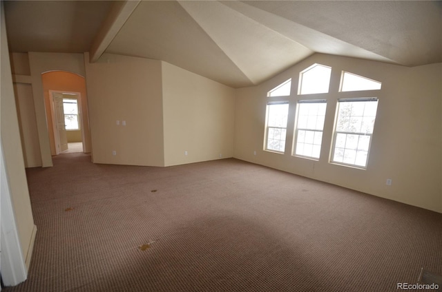
[[[115,54],[86,62],[86,79],[94,163],[168,166],[233,156],[231,87]]]

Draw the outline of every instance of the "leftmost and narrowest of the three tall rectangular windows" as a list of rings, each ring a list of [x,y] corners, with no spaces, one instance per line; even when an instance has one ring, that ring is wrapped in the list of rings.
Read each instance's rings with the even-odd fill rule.
[[[267,104],[266,150],[284,153],[288,114],[287,102]]]

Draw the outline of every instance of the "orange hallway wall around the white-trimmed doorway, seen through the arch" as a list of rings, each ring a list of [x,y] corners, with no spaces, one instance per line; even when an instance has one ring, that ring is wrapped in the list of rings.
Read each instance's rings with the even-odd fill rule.
[[[86,80],[77,74],[64,71],[48,72],[41,75],[43,81],[44,100],[46,112],[48,113],[48,134],[50,140],[50,153],[55,155],[55,138],[53,131],[53,121],[51,112],[51,96],[49,90],[61,92],[78,92],[81,96],[81,129],[84,131],[84,149],[86,153],[91,151],[89,117],[88,117],[88,98],[86,94]]]

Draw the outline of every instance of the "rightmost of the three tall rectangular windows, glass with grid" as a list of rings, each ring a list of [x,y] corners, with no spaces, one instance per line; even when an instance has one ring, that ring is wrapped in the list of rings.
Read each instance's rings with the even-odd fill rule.
[[[378,98],[349,98],[338,101],[332,162],[365,168]]]

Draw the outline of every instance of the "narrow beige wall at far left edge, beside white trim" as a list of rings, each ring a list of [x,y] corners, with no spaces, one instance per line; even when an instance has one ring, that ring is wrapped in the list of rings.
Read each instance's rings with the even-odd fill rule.
[[[28,183],[26,183],[25,165],[21,147],[19,121],[15,104],[14,88],[10,57],[8,54],[8,40],[6,39],[6,24],[1,5],[1,80],[0,80],[0,127],[1,144],[5,156],[6,176],[10,187],[12,205],[17,223],[21,251],[29,267],[32,255],[32,246],[35,240],[35,231],[30,206]]]

